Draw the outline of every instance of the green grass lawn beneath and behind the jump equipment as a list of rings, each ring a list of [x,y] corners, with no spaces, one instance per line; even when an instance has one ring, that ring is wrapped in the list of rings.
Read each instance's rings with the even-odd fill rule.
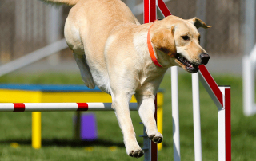
[[[242,79],[233,76],[216,76],[219,85],[231,85],[232,160],[253,161],[256,149],[256,116],[242,113]],[[21,76],[10,74],[0,78],[0,83],[25,84],[82,84],[78,73],[38,74]],[[194,160],[193,114],[190,74],[179,75],[179,105],[181,158]],[[161,88],[165,89],[163,117],[163,149],[159,160],[173,160],[170,75],[166,74]],[[202,121],[202,159],[218,160],[217,108],[200,84]],[[93,143],[73,140],[72,118],[74,112],[42,112],[42,148],[31,147],[31,113],[0,112],[0,160],[143,160],[130,158],[122,142],[122,132],[114,112],[95,112],[98,123],[98,141]],[[131,112],[135,132],[142,134],[138,112]],[[138,137],[142,146],[142,139]],[[19,147],[11,147],[18,143]],[[110,147],[115,146],[115,151]],[[86,148],[87,147],[87,148]],[[92,147],[92,151],[88,151]]]

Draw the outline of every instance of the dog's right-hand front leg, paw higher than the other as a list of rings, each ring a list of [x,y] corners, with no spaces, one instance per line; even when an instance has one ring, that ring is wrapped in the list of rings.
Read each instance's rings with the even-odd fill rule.
[[[162,134],[158,132],[154,119],[154,95],[146,92],[146,95],[136,93],[135,96],[138,102],[138,114],[146,127],[146,134],[154,143],[161,143]]]

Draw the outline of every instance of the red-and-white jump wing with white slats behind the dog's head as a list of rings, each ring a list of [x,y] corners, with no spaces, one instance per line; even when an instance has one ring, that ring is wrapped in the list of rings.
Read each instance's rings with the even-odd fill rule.
[[[144,22],[171,15],[163,0],[144,0]],[[200,73],[200,77],[198,77]],[[194,160],[202,161],[201,122],[198,81],[202,82],[218,108],[218,160],[231,160],[230,86],[218,86],[204,65],[192,74],[193,118],[194,118]],[[174,139],[174,161],[180,161],[179,119],[178,119],[178,67],[171,67],[171,94]]]

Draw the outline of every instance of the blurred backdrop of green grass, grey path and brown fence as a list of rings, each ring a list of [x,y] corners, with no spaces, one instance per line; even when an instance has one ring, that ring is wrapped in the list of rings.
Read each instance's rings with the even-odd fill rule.
[[[123,2],[142,23],[143,1]],[[185,19],[198,17],[212,26],[199,31],[202,46],[210,54],[206,68],[217,84],[231,85],[232,160],[255,160],[256,116],[245,116],[242,109],[242,57],[248,55],[255,44],[254,0],[164,2],[172,14]],[[0,83],[83,84],[72,52],[62,41],[69,10],[70,6],[50,6],[38,0],[0,0]],[[54,44],[56,41],[60,43]],[[50,50],[53,47],[49,47],[53,44],[54,52]],[[52,54],[46,57],[49,53]],[[12,68],[14,66],[18,67]],[[194,160],[191,77],[182,69],[178,77],[182,160]],[[170,72],[166,73],[160,88],[165,91],[164,139],[158,158],[173,160]],[[217,109],[202,84],[200,105],[202,158],[218,160]],[[95,113],[98,142],[76,143],[73,141],[74,112],[42,112],[42,148],[34,150],[30,112],[0,112],[0,160],[134,160],[126,156],[114,112]],[[141,135],[138,112],[131,112],[131,116],[137,136]],[[142,139],[138,138],[138,143],[142,145]]]

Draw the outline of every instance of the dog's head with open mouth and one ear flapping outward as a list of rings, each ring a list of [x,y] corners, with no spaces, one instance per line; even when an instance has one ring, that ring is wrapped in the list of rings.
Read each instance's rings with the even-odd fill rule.
[[[178,65],[189,73],[198,72],[198,65],[206,65],[209,55],[200,45],[198,28],[210,28],[199,18],[184,20],[168,16],[155,22],[151,42],[163,64]]]

